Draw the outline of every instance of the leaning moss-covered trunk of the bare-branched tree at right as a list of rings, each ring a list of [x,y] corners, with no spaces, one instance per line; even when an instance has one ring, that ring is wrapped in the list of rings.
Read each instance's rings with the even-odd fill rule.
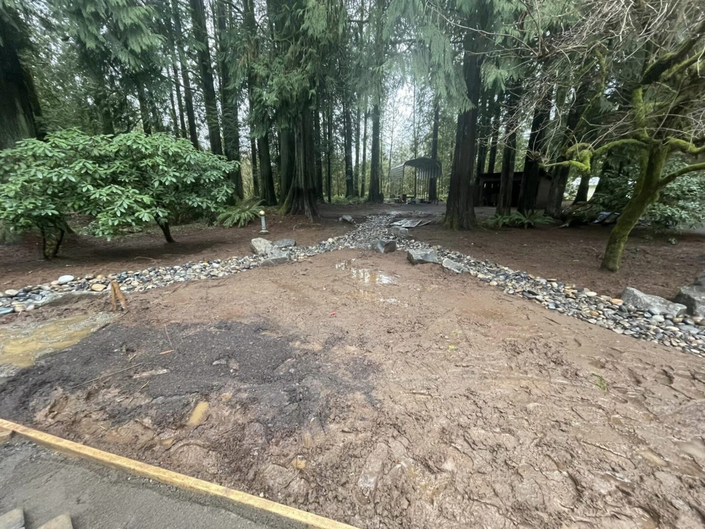
[[[602,258],[603,268],[612,272],[619,269],[629,234],[639,219],[644,216],[646,208],[658,198],[658,192],[661,189],[661,171],[663,171],[667,158],[668,147],[664,145],[652,145],[649,152],[644,154],[641,174],[632,197],[618,217],[607,241],[605,254]]]

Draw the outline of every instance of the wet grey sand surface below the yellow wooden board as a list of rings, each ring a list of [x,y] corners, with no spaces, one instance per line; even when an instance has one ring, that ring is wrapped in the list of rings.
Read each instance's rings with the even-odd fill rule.
[[[27,529],[68,514],[74,529],[284,529],[300,525],[12,439],[0,444],[0,514]]]

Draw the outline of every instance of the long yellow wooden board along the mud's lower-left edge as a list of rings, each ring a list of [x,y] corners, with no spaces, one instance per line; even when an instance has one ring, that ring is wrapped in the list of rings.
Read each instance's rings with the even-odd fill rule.
[[[190,492],[228,499],[250,509],[266,511],[267,513],[282,516],[283,518],[288,518],[289,520],[308,525],[312,528],[355,529],[353,525],[348,525],[347,523],[336,522],[329,518],[318,516],[317,514],[278,504],[276,501],[252,496],[252,494],[229,489],[228,487],[216,485],[209,481],[191,478],[188,475],[172,472],[165,468],[140,463],[140,461],[111,454],[110,452],[95,449],[85,444],[75,443],[68,439],[62,439],[61,437],[40,432],[39,430],[34,430],[9,420],[0,419],[0,428],[11,430],[22,437],[31,439],[37,444],[42,444],[42,446],[47,446],[49,449],[61,452],[62,454],[93,461],[100,465],[109,466],[116,470],[123,470],[142,478],[149,478],[150,480],[155,480],[165,485],[171,485]]]

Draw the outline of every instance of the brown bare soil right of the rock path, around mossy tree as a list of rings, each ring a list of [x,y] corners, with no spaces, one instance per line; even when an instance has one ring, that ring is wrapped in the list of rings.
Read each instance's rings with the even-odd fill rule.
[[[705,269],[705,235],[635,230],[619,271],[601,270],[609,233],[610,229],[604,226],[448,231],[439,224],[429,224],[413,230],[419,241],[615,297],[626,286],[633,286],[671,298]],[[675,245],[668,242],[673,237],[678,240]]]

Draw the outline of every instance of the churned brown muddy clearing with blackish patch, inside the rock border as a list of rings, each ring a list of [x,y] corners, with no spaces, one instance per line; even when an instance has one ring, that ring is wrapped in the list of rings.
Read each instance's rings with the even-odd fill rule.
[[[705,360],[401,253],[134,294],[0,384],[1,417],[361,528],[705,523]]]

